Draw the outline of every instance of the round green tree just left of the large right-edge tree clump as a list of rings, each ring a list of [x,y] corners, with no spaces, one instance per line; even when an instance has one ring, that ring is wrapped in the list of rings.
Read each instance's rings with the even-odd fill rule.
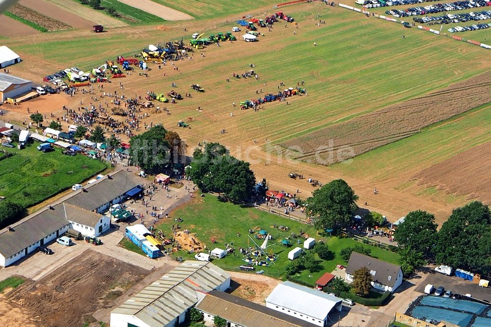
[[[404,222],[397,226],[394,233],[395,241],[401,246],[410,246],[414,251],[421,252],[423,257],[432,256],[436,241],[435,216],[426,211],[411,211]]]

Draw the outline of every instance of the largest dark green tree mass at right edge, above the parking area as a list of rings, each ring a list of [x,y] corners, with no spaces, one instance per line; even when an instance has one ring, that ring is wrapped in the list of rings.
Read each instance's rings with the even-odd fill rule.
[[[437,235],[438,263],[491,273],[491,213],[487,206],[474,201],[454,209]]]

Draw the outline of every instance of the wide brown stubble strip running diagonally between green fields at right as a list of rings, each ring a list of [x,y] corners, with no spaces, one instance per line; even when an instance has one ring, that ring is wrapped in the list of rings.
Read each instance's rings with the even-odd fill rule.
[[[281,143],[305,162],[334,164],[491,102],[491,73]]]

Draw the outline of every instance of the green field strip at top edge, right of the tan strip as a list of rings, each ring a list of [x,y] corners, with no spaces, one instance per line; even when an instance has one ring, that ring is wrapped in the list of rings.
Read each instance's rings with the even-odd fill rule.
[[[258,1],[220,1],[220,0],[153,0],[167,7],[182,11],[194,18],[216,18],[226,15],[247,12],[247,10],[256,10],[260,7],[269,7],[268,11],[273,13],[273,5],[278,2],[271,0]],[[271,15],[271,14],[270,14]],[[239,19],[240,17],[237,17]]]

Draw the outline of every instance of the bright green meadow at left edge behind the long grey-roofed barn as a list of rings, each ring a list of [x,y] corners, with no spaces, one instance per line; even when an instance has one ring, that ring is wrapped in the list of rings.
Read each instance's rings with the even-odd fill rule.
[[[38,151],[34,143],[25,149],[8,148],[16,155],[0,161],[0,195],[27,208],[67,190],[107,168],[86,156],[75,157]]]

